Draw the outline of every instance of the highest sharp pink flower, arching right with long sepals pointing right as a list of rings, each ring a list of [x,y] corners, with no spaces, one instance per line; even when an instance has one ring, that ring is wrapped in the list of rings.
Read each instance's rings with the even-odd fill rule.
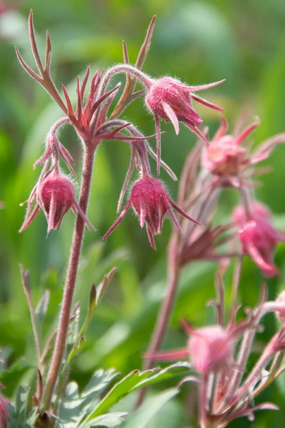
[[[190,130],[195,132],[202,140],[208,143],[206,136],[199,131],[202,119],[193,108],[193,99],[205,106],[215,110],[223,108],[212,104],[206,99],[195,95],[195,91],[212,88],[225,82],[214,82],[201,86],[188,86],[177,79],[165,77],[150,80],[145,102],[149,110],[153,113],[156,121],[156,136],[158,142],[158,174],[160,170],[160,118],[173,123],[176,134],[179,133],[179,121],[183,122]]]

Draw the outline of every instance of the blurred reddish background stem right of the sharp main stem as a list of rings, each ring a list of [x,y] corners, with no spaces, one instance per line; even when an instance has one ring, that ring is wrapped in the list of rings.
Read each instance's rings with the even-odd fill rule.
[[[147,355],[155,355],[160,348],[166,328],[169,323],[169,317],[174,306],[175,296],[177,292],[177,286],[179,281],[179,265],[177,263],[177,243],[179,239],[179,231],[175,230],[169,243],[169,272],[167,281],[166,296],[160,307],[160,313],[156,320],[153,334],[149,347],[147,348]],[[145,360],[143,364],[143,370],[149,370],[153,367],[153,359],[150,357]],[[146,388],[142,388],[138,393],[138,399],[136,401],[136,409],[140,407],[145,399]]]

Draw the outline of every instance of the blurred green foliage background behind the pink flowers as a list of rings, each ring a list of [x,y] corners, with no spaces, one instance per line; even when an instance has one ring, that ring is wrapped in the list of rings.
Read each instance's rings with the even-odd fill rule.
[[[68,213],[60,231],[47,237],[46,222],[40,213],[21,235],[25,207],[39,170],[34,161],[44,148],[45,135],[62,112],[49,95],[23,71],[16,60],[14,45],[34,67],[29,48],[27,16],[34,10],[34,24],[41,53],[45,49],[45,30],[53,44],[52,75],[58,88],[64,83],[75,94],[75,78],[83,76],[86,65],[92,73],[122,60],[121,40],[127,42],[131,62],[135,62],[140,44],[153,14],[157,22],[145,71],[154,77],[173,75],[189,84],[201,84],[226,78],[226,82],[204,96],[225,108],[234,125],[240,112],[261,118],[255,133],[259,143],[285,131],[285,2],[284,0],[191,1],[191,0],[64,0],[15,1],[0,3],[0,345],[14,364],[8,377],[6,394],[12,396],[16,384],[29,377],[28,364],[34,364],[34,347],[29,312],[20,281],[18,263],[32,274],[34,300],[45,289],[51,290],[46,333],[55,326],[62,296],[62,285],[73,230],[73,215]],[[114,81],[121,80],[117,77]],[[199,109],[199,106],[197,107]],[[212,135],[218,126],[216,112],[200,109]],[[153,133],[153,120],[142,100],[136,100],[123,113],[145,134]],[[179,136],[169,124],[162,140],[162,157],[179,176],[184,159],[195,143],[186,128]],[[66,128],[61,141],[71,151],[79,172],[82,151],[73,130]],[[284,182],[285,147],[279,147],[269,160],[273,171],[262,178],[264,186],[256,191],[269,204],[276,221],[285,226]],[[86,312],[92,283],[101,281],[113,265],[118,267],[108,293],[88,331],[84,352],[77,358],[72,377],[83,385],[95,368],[114,367],[127,373],[140,368],[140,355],[147,348],[156,313],[165,287],[166,246],[171,225],[164,223],[157,237],[158,250],[151,250],[145,230],[129,213],[121,226],[102,242],[100,237],[116,218],[116,204],[129,163],[129,147],[121,141],[103,143],[97,153],[88,218],[98,232],[88,230],[77,282],[76,300]],[[152,164],[154,171],[154,164]],[[177,183],[162,173],[175,197]],[[225,220],[234,204],[232,192],[225,193]],[[276,261],[284,270],[284,246],[278,248]],[[200,326],[213,322],[212,309],[205,302],[214,296],[214,263],[195,263],[184,270],[177,306],[165,348],[183,346],[186,337],[179,329],[179,318],[187,317]],[[230,274],[226,286],[230,287]],[[254,305],[262,277],[251,261],[245,261],[240,298]],[[267,281],[269,296],[275,298],[284,288],[282,276]],[[258,335],[257,348],[275,331],[275,320],[266,320],[266,329]],[[259,346],[260,345],[260,346]],[[26,354],[25,360],[19,358]],[[254,356],[253,356],[254,357]],[[253,358],[254,359],[254,358]],[[160,385],[159,388],[169,386]],[[262,401],[280,405],[280,412],[260,412],[251,427],[284,427],[285,379],[264,392]],[[190,422],[188,389],[184,386],[156,416],[151,427],[182,428]],[[195,388],[195,387],[194,387]],[[128,406],[129,403],[126,403]],[[232,423],[248,426],[245,418]]]

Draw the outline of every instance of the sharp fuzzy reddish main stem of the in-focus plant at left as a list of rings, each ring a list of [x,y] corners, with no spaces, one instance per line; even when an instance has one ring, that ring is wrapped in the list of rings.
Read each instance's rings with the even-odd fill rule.
[[[79,198],[79,206],[84,212],[84,214],[86,214],[87,211],[88,198],[90,194],[94,156],[95,149],[91,147],[91,145],[86,144],[84,150],[83,174]],[[47,411],[51,405],[53,390],[55,388],[55,383],[58,379],[60,367],[62,364],[62,357],[64,355],[64,349],[66,344],[66,335],[69,328],[69,319],[73,302],[73,293],[75,289],[77,269],[82,248],[84,226],[84,220],[79,214],[77,214],[75,229],[73,232],[71,254],[69,257],[69,268],[67,270],[66,283],[64,286],[64,296],[62,298],[62,309],[60,313],[58,334],[55,340],[55,348],[53,351],[53,357],[51,359],[51,366],[47,375],[45,390],[43,392],[42,403],[40,406],[40,411],[42,414]]]

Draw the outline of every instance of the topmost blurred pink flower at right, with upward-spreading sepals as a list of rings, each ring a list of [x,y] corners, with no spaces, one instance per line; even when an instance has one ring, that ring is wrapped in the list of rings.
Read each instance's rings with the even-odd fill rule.
[[[240,182],[256,174],[252,168],[261,160],[269,157],[275,145],[285,142],[285,134],[277,134],[260,144],[258,149],[249,152],[249,147],[242,146],[247,137],[260,124],[260,120],[240,131],[242,120],[238,121],[234,134],[227,132],[227,121],[221,117],[221,126],[210,144],[205,147],[202,155],[202,165],[219,177],[219,185],[238,187]]]

